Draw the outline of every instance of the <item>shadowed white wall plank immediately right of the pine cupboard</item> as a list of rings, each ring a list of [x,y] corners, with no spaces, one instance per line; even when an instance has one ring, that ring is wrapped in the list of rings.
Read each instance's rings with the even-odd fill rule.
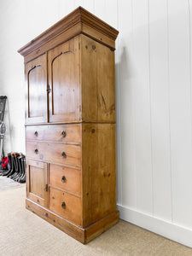
[[[127,15],[121,15],[124,10]],[[119,68],[119,106],[117,108],[117,120],[120,125],[118,137],[118,160],[120,158],[122,170],[118,165],[118,191],[121,191],[122,205],[132,208],[137,207],[137,180],[135,158],[135,133],[133,115],[133,82],[134,68],[132,46],[132,4],[129,1],[119,1],[119,40],[116,53],[118,55],[117,67]],[[126,26],[125,26],[126,24]],[[119,108],[120,107],[120,108]],[[120,117],[120,119],[119,119]],[[121,148],[120,148],[121,147]],[[119,155],[120,154],[120,155]],[[123,175],[123,177],[122,177]]]

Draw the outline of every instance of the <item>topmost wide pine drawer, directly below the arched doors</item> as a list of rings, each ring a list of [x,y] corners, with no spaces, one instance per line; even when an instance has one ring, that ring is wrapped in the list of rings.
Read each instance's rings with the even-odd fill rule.
[[[26,140],[81,143],[81,125],[26,126]]]

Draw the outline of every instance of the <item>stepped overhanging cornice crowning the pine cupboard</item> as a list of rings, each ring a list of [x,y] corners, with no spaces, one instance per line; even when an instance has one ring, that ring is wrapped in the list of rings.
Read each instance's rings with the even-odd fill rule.
[[[24,45],[18,52],[20,55],[26,56],[33,50],[61,36],[62,33],[65,33],[65,35],[63,34],[63,42],[83,33],[107,45],[109,48],[115,49],[114,42],[119,32],[95,15],[92,15],[86,9],[79,7],[74,9],[72,13],[62,20],[55,23],[55,25],[49,27],[49,29],[41,33],[37,38],[34,38],[31,42]]]

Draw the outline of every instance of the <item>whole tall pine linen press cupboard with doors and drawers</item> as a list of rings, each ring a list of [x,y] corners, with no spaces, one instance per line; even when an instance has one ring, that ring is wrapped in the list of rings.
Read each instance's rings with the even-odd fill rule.
[[[26,76],[26,208],[83,243],[119,220],[117,35],[79,7],[18,50]]]

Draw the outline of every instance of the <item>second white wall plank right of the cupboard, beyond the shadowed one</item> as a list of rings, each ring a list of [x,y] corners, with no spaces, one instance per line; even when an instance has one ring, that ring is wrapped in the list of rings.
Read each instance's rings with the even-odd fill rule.
[[[136,142],[137,210],[153,213],[151,160],[148,1],[133,1],[132,68]]]

